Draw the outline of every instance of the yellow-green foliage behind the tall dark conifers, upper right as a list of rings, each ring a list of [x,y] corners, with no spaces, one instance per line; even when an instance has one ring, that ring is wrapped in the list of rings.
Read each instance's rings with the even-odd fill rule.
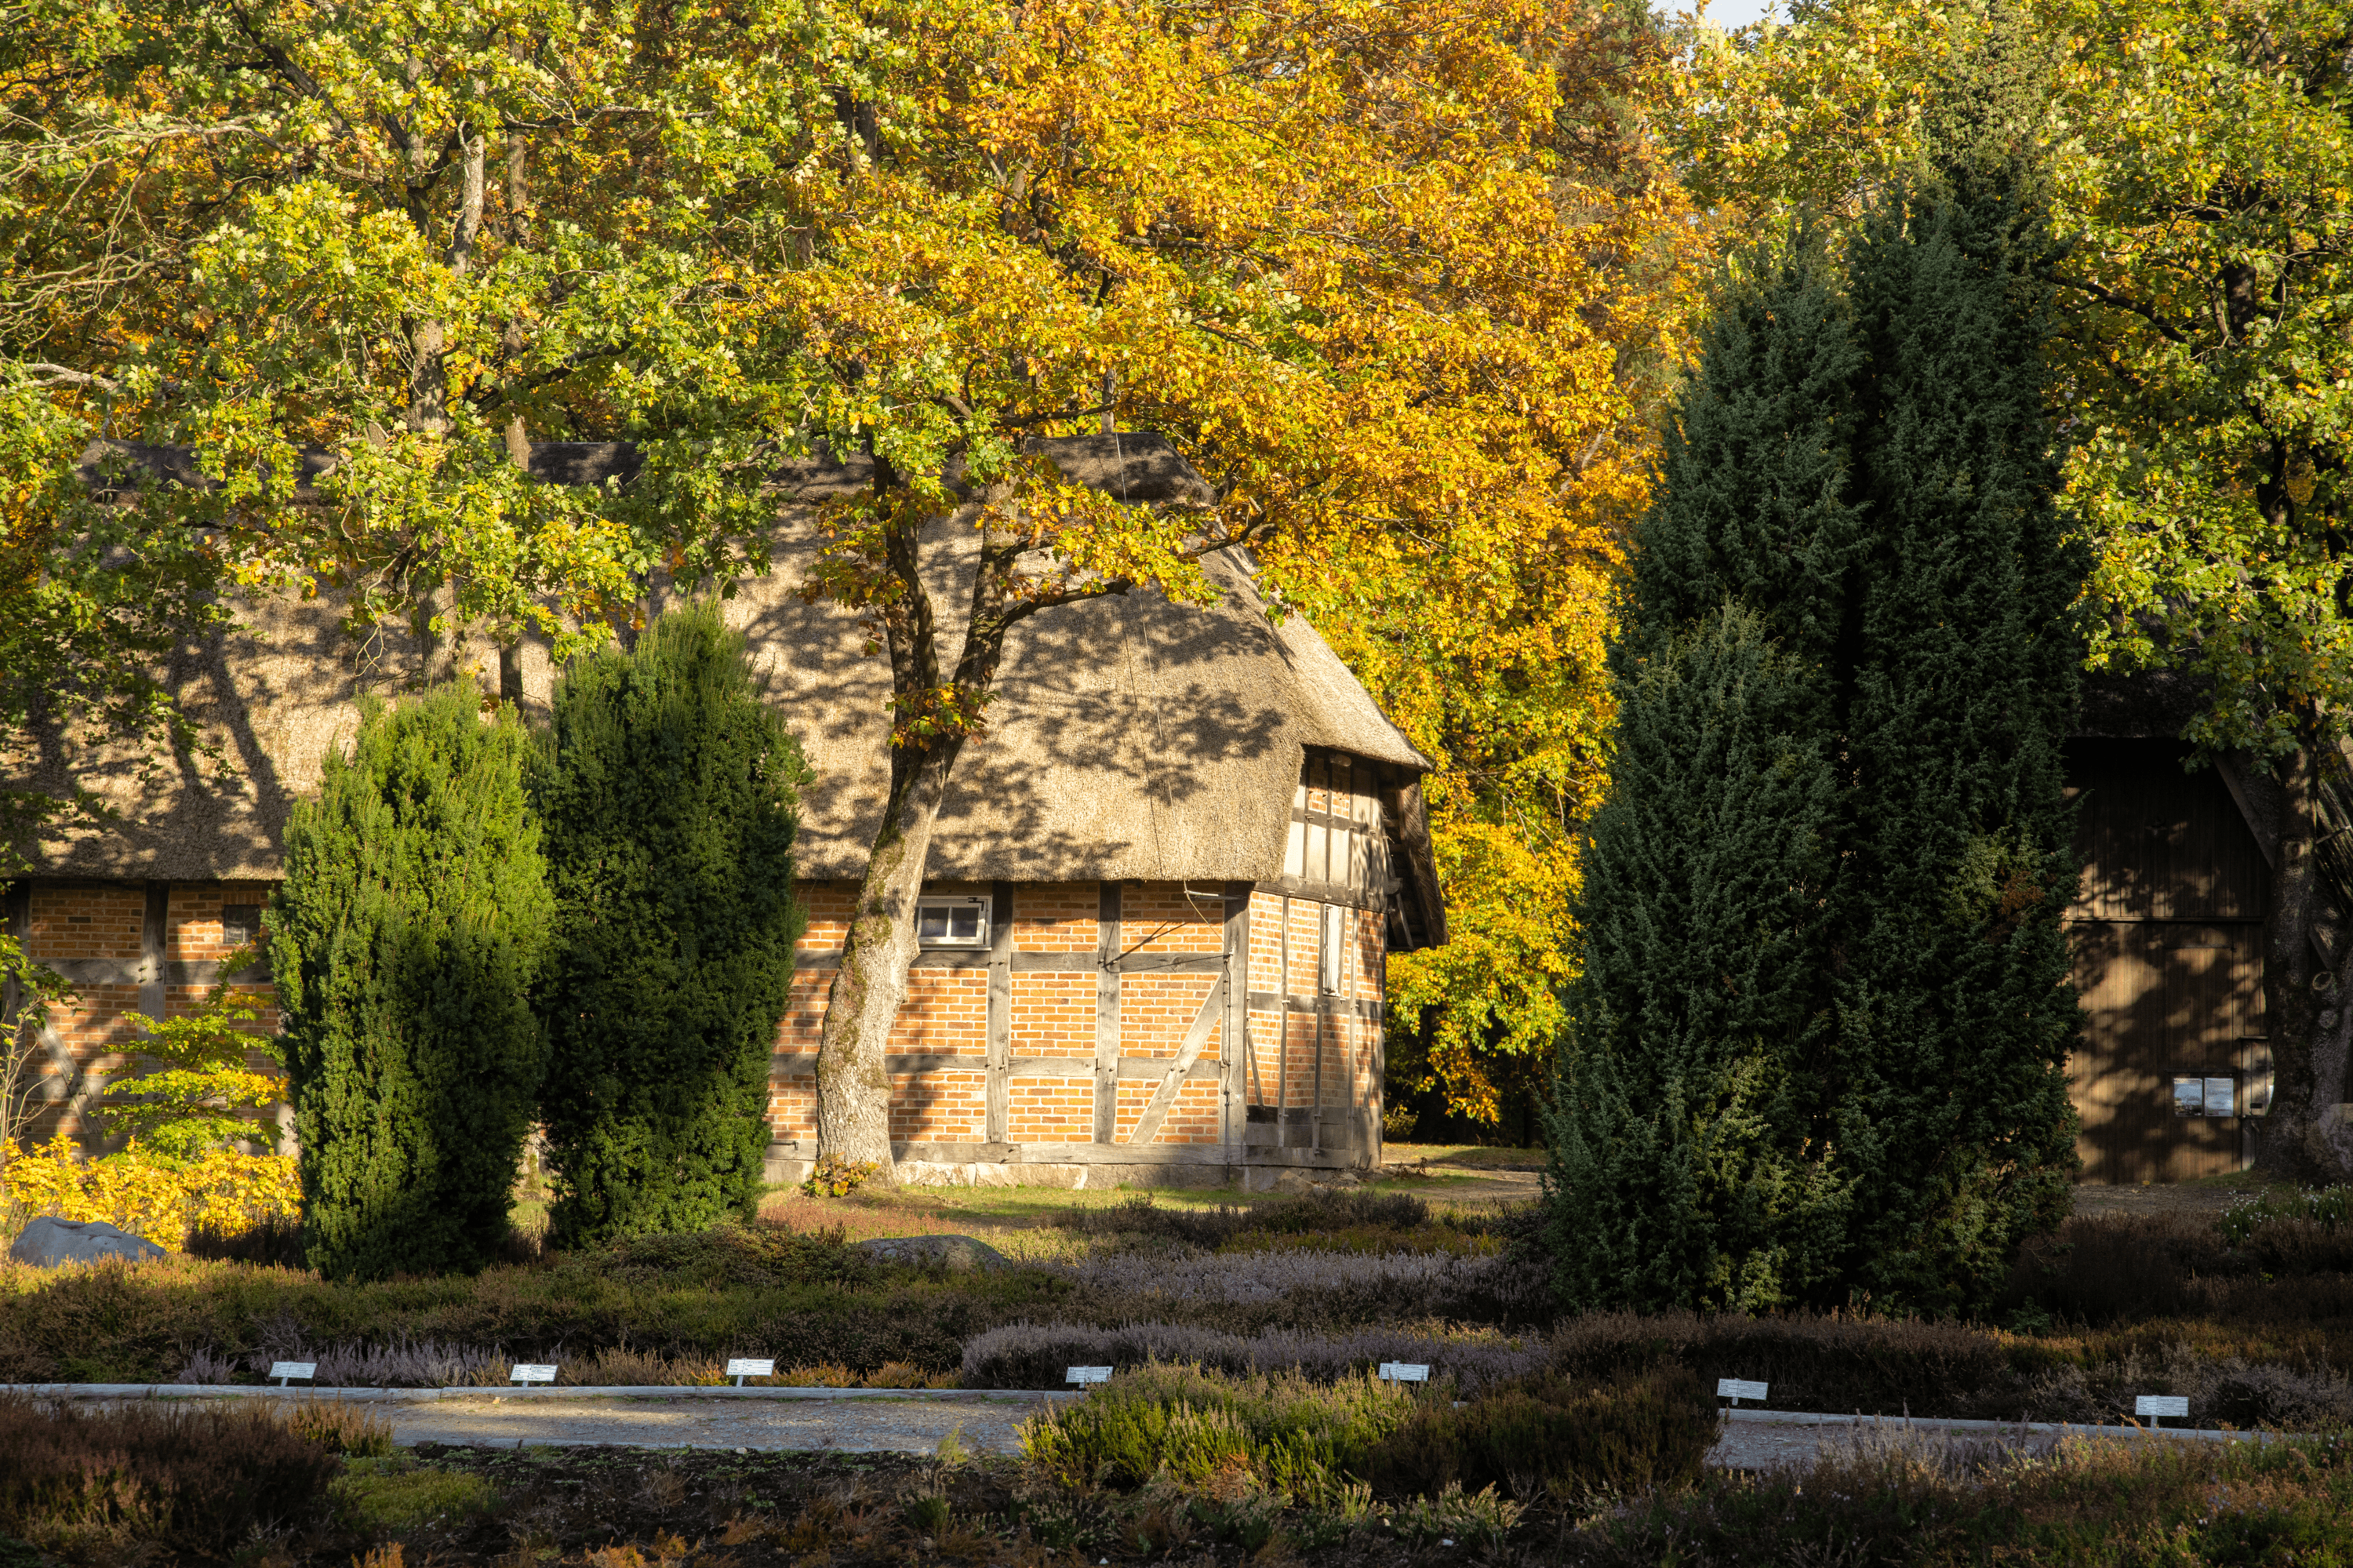
[[[2047,40],[2017,134],[2052,200],[2092,666],[2198,669],[2193,739],[2282,756],[2353,695],[2353,9],[1809,7],[1706,54],[1685,148],[1722,200],[1852,210],[2005,28]]]

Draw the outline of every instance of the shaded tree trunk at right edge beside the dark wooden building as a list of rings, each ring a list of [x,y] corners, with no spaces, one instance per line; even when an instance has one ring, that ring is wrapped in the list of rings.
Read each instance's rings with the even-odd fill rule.
[[[2327,888],[2313,857],[2320,831],[2320,763],[2311,744],[2287,763],[2280,791],[2280,859],[2264,930],[2264,1012],[2271,1034],[2271,1111],[2257,1123],[2254,1161],[2278,1180],[2344,1182],[2353,1175],[2346,1045],[2353,1038],[2353,939],[2322,935]]]

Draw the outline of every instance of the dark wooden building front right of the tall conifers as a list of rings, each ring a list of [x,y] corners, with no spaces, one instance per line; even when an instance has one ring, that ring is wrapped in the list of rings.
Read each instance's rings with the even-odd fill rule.
[[[2184,772],[2184,756],[2160,739],[2068,746],[2085,1010],[2068,1081],[2087,1182],[2238,1170],[2271,1092],[2264,855],[2217,770]],[[2228,1083],[2233,1114],[2181,1114],[2177,1081]]]

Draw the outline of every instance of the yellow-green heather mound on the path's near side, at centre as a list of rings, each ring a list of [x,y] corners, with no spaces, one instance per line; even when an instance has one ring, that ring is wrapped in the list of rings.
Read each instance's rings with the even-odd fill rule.
[[[1315,1507],[1414,1410],[1414,1394],[1372,1377],[1226,1375],[1146,1366],[1021,1427],[1021,1450],[1071,1481],[1179,1486],[1247,1471]]]

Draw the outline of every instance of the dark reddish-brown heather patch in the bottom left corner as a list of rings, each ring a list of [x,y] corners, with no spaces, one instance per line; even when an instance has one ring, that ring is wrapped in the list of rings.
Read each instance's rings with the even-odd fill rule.
[[[0,1394],[0,1535],[96,1561],[226,1559],[313,1516],[341,1460],[271,1408]]]

